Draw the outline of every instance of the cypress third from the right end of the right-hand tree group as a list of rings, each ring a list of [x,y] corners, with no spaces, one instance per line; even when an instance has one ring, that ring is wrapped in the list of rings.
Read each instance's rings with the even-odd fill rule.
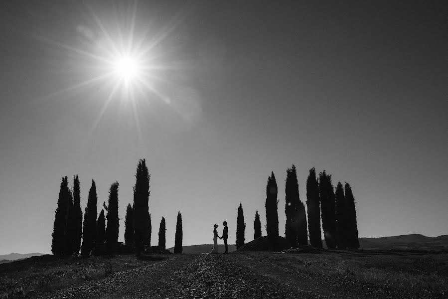
[[[336,249],[336,214],[334,188],[331,175],[319,173],[319,199],[322,213],[322,228],[328,249]]]

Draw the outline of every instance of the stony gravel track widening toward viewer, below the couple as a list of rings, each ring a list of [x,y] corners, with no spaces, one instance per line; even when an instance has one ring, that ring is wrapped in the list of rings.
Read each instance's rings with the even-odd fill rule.
[[[267,255],[172,255],[41,298],[434,298],[305,272]]]

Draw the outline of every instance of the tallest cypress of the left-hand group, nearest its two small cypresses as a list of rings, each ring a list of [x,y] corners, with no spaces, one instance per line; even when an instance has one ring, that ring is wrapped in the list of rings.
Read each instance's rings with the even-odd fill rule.
[[[136,171],[136,184],[134,186],[134,242],[136,253],[143,252],[147,243],[149,232],[149,172],[145,159],[140,159]]]

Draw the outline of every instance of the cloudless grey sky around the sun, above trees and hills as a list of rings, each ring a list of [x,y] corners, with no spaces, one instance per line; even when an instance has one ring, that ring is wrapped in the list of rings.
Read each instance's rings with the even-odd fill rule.
[[[0,254],[50,253],[61,177],[119,215],[149,167],[151,243],[266,235],[266,183],[350,183],[360,237],[447,234],[444,1],[0,1]],[[125,79],[116,57],[139,59]],[[118,56],[117,56],[118,55]],[[124,240],[124,220],[119,241]]]

